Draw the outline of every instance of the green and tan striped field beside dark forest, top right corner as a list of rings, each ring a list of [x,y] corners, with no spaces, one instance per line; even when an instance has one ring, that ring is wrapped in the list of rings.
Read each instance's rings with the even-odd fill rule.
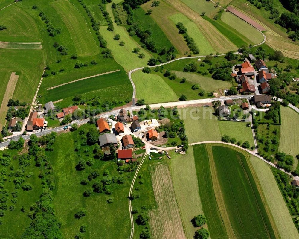
[[[248,1],[246,0],[233,1],[231,4],[235,9],[245,14],[249,18],[254,19],[254,21],[259,23],[267,30],[265,32],[266,43],[270,47],[282,51],[284,56],[286,57],[299,59],[298,43],[292,42],[292,40],[288,38],[288,35],[285,32],[286,30],[283,29],[280,25],[275,24],[274,20],[269,19],[270,11],[261,11],[254,7],[254,5],[248,4]],[[286,11],[279,1],[275,1],[274,8],[279,9],[280,13],[282,13],[282,11]]]

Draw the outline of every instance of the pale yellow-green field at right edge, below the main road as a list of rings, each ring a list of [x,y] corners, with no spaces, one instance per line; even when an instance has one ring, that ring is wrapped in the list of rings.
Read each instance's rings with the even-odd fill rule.
[[[299,115],[289,107],[280,107],[281,125],[280,125],[280,141],[279,151],[290,154],[298,165],[296,155],[299,154]],[[298,166],[297,166],[298,167]]]

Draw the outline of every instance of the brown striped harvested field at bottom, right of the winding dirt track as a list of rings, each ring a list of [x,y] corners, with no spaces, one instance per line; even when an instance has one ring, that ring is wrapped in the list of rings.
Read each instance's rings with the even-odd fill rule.
[[[176,202],[170,172],[166,164],[151,168],[152,186],[158,209],[149,212],[153,239],[186,239]]]

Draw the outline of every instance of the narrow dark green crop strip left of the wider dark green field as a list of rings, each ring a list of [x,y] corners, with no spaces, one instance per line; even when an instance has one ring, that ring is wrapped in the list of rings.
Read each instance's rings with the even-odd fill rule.
[[[206,145],[198,144],[193,146],[193,154],[199,195],[204,215],[207,218],[211,238],[228,238],[213,189],[213,180]]]

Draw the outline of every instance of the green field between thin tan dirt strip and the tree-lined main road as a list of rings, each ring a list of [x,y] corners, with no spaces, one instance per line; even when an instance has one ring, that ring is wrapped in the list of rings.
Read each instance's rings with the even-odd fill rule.
[[[124,71],[117,71],[106,75],[80,80],[67,85],[47,90],[43,103],[63,99],[58,104],[68,106],[76,94],[91,99],[95,96],[101,101],[125,100],[132,95],[132,86]]]

